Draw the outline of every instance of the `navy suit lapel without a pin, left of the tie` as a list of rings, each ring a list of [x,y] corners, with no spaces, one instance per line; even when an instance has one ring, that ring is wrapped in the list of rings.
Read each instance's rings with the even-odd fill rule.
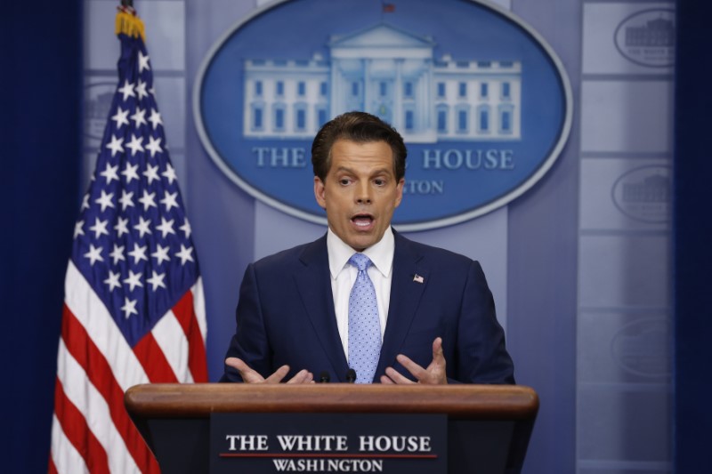
[[[302,297],[313,330],[328,354],[328,363],[331,364],[333,373],[339,377],[340,382],[344,382],[341,379],[344,378],[349,366],[336,326],[334,295],[331,292],[328,269],[327,237],[321,237],[307,245],[299,260],[303,263],[303,267],[295,273],[295,285]]]

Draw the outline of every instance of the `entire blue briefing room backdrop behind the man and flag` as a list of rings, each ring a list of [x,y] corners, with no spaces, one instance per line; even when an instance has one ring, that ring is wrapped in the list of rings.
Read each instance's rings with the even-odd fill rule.
[[[396,227],[481,261],[517,382],[538,391],[524,472],[708,471],[707,4],[134,6],[203,277],[210,381],[247,263],[324,232],[305,137],[320,113],[372,108],[409,142],[415,204]],[[116,7],[37,0],[0,15],[4,472],[47,469],[65,272],[117,87]],[[360,60],[359,89],[344,76],[357,46],[417,60]],[[275,77],[290,110],[315,84],[307,122],[277,117]],[[479,168],[478,153],[490,157]],[[303,169],[285,178],[275,164]]]

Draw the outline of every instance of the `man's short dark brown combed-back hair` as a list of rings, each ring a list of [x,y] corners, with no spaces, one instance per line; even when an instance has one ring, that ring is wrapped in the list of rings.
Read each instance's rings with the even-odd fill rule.
[[[405,176],[408,150],[401,134],[377,116],[354,111],[346,112],[328,121],[314,138],[312,168],[314,176],[319,177],[322,182],[327,179],[331,167],[331,149],[338,140],[350,140],[356,143],[385,141],[392,150],[396,181],[401,181]]]

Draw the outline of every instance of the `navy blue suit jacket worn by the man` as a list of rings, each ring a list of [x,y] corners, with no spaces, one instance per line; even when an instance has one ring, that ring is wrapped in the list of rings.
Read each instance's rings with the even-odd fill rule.
[[[374,381],[387,366],[412,379],[396,355],[426,367],[441,336],[450,382],[514,383],[480,264],[394,234],[391,302]],[[241,358],[264,377],[287,364],[285,380],[307,369],[317,378],[328,371],[331,382],[345,382],[349,366],[336,328],[326,235],[247,267],[228,357]],[[225,366],[222,380],[242,379]]]

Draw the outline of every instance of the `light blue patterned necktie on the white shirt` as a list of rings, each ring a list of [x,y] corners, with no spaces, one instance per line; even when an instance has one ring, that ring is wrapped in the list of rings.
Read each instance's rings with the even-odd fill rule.
[[[376,289],[366,271],[373,262],[354,253],[349,263],[359,269],[349,296],[349,366],[356,371],[356,383],[371,383],[381,355]]]

